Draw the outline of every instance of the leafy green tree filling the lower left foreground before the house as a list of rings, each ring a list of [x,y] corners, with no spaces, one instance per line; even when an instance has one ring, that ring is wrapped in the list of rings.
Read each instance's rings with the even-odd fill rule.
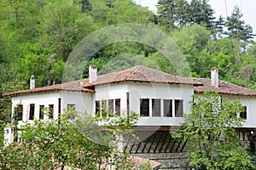
[[[68,118],[73,116],[76,118]],[[106,121],[105,126],[97,124]],[[129,157],[117,150],[119,141],[116,136],[131,129],[135,122],[135,113],[131,113],[128,120],[126,117],[94,118],[73,110],[63,113],[57,120],[34,120],[20,128],[18,144],[1,148],[0,167],[102,169],[101,166],[108,163],[119,169],[129,168]],[[94,142],[94,139],[101,143]]]

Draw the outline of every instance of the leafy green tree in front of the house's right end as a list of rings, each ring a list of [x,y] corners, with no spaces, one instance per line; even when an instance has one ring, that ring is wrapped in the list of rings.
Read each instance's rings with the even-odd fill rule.
[[[220,99],[212,91],[194,96],[191,114],[186,115],[183,125],[172,134],[175,139],[187,141],[189,167],[253,168],[235,129],[242,125],[243,109],[238,100]]]

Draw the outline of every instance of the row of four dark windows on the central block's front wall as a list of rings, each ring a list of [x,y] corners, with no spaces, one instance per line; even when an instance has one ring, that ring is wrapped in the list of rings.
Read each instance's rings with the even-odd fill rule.
[[[149,108],[150,100],[151,108]],[[140,115],[149,116],[149,109],[152,111],[152,116],[161,116],[163,109],[165,117],[173,117],[173,111],[175,117],[183,117],[183,99],[140,99]]]

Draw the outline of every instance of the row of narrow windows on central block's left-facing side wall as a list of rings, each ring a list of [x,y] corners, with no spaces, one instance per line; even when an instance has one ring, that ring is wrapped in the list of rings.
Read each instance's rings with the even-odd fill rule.
[[[97,100],[95,105],[96,116],[108,116],[109,111],[116,116],[121,115],[121,99]]]

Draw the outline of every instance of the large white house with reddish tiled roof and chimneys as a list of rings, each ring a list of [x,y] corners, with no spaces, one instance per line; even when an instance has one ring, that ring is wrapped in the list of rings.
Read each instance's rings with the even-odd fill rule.
[[[255,132],[256,91],[218,80],[218,68],[212,68],[212,79],[176,77],[141,65],[101,76],[97,76],[96,66],[90,66],[89,72],[90,77],[83,80],[32,87],[5,96],[11,97],[13,111],[17,105],[21,108],[20,123],[33,118],[55,119],[71,106],[95,116],[101,114],[98,108],[105,104],[118,116],[129,116],[130,111],[140,114],[138,128],[166,131],[180,125],[184,113],[189,114],[193,94],[212,89],[222,98],[239,99],[246,106],[241,115],[246,119],[243,128]],[[44,107],[51,108],[53,115],[45,116]]]

